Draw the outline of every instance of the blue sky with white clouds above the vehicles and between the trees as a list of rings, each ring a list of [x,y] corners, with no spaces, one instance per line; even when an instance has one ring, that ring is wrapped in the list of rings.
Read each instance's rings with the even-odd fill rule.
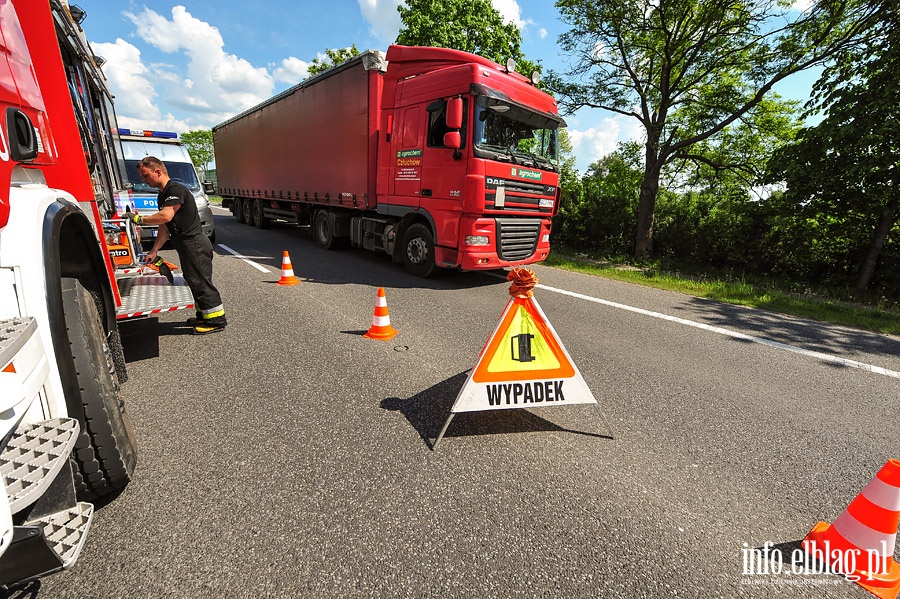
[[[302,81],[326,48],[382,50],[400,29],[401,0],[75,0],[115,96],[120,127],[184,133],[213,126]],[[566,26],[551,0],[491,0],[522,32],[544,71],[565,71]],[[72,0],[70,0],[72,2]],[[806,101],[813,77],[778,91]],[[640,139],[636,120],[598,109],[565,117],[576,168]]]

